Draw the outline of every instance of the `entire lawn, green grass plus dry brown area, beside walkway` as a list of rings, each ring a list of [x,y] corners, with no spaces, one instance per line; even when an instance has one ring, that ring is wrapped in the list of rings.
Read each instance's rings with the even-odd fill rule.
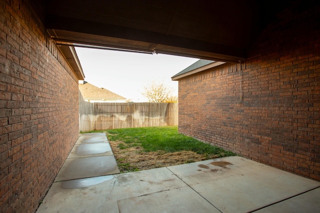
[[[177,127],[106,130],[121,173],[235,155],[177,132]]]

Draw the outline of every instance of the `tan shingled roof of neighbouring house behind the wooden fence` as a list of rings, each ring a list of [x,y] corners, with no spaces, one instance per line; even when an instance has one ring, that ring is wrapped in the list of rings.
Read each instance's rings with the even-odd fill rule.
[[[86,81],[83,84],[79,84],[79,90],[84,99],[116,99],[116,100],[126,100],[126,98],[115,94],[104,88],[96,87]]]

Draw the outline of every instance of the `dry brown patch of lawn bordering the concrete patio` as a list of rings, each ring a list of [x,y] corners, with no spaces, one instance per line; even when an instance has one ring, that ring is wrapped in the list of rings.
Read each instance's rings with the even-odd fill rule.
[[[109,144],[121,173],[192,163],[218,157],[197,154],[192,151],[143,152],[143,148],[139,144],[128,147],[121,141],[109,141]]]

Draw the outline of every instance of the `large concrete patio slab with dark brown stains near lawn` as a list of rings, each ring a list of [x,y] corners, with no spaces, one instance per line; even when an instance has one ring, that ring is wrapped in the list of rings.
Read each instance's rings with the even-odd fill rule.
[[[168,169],[225,213],[254,211],[320,186],[319,182],[236,156]]]

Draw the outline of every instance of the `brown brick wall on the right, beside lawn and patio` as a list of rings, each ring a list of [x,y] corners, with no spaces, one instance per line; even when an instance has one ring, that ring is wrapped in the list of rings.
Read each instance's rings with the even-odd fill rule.
[[[320,180],[320,10],[304,6],[282,11],[241,64],[179,80],[179,132]]]

